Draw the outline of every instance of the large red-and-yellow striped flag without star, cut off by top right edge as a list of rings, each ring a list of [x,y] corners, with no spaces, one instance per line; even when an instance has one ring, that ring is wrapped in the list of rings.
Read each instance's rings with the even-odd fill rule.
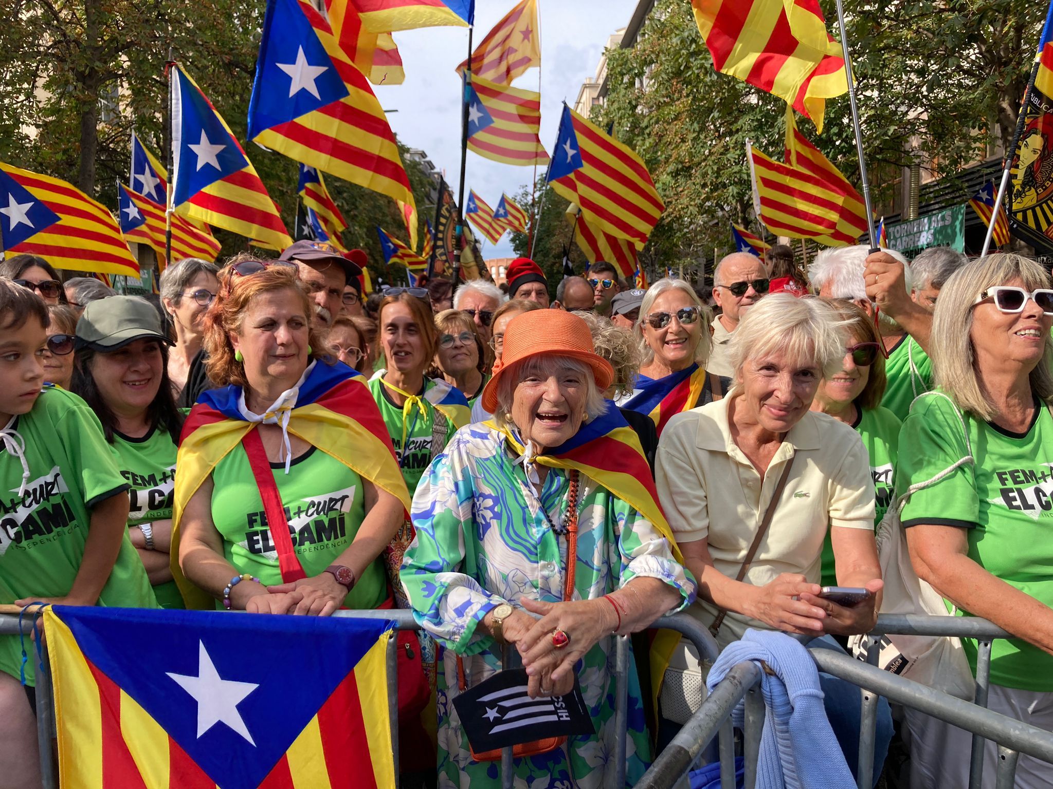
[[[848,92],[841,45],[818,0],[691,0],[721,74],[786,99],[822,132],[827,99]]]

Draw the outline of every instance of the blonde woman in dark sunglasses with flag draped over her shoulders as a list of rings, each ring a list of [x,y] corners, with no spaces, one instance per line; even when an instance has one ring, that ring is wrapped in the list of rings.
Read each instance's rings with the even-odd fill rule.
[[[723,394],[704,367],[710,320],[709,307],[683,280],[658,280],[643,297],[635,328],[643,362],[633,396],[620,405],[650,416],[659,437],[674,414]]]

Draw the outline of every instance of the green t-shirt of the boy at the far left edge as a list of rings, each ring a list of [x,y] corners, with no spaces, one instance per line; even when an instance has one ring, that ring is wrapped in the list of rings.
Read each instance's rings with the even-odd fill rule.
[[[92,508],[128,485],[98,418],[76,394],[45,387],[33,410],[7,429],[25,442],[29,477],[19,497],[22,464],[0,448],[0,603],[68,594],[84,555]],[[127,539],[98,604],[157,607],[146,571]],[[18,676],[20,663],[19,638],[0,635],[0,670]],[[33,665],[31,659],[29,685],[35,684]]]

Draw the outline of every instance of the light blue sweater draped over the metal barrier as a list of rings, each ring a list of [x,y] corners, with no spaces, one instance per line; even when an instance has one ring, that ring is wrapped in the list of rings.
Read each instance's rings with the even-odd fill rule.
[[[758,789],[845,789],[855,786],[822,708],[819,672],[808,650],[786,633],[747,630],[720,653],[706,681],[712,691],[743,661],[762,662],[773,673],[760,677],[767,707],[757,758]],[[742,726],[744,703],[732,713]]]

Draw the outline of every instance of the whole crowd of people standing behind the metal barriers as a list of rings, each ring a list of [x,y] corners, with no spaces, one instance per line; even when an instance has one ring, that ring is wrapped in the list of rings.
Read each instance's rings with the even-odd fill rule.
[[[550,283],[521,258],[501,287],[365,297],[365,263],[312,241],[182,260],[158,309],[38,257],[0,262],[0,602],[410,608],[400,736],[434,748],[403,748],[404,777],[498,785],[499,753],[472,749],[452,701],[512,647],[530,695],[577,682],[596,729],[524,751],[517,784],[601,787],[612,633],[687,611],[721,647],[757,628],[845,650],[876,622],[875,530],[902,498],[920,578],[1015,636],[995,642],[989,706],[1053,730],[1039,264],[850,246],[803,270],[776,246],[727,256],[700,291],[634,288],[602,262]],[[690,651],[633,643],[628,786],[677,725],[652,706],[662,661]],[[819,679],[854,773],[858,688]],[[17,789],[40,785],[34,685],[0,636]],[[901,728],[913,786],[968,783],[968,733],[919,713]],[[881,700],[874,785],[893,736]],[[1016,786],[1050,769],[1021,756]]]

